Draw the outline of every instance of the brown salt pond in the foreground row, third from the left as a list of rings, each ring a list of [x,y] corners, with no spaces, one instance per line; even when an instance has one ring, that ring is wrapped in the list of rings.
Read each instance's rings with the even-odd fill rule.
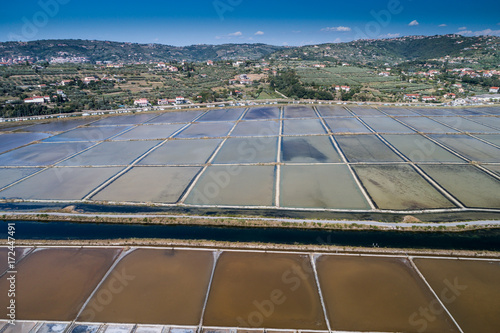
[[[325,329],[309,257],[222,253],[203,323],[244,328]]]

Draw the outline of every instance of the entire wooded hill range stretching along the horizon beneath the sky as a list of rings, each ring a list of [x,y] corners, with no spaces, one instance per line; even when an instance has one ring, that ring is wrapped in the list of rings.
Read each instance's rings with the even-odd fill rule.
[[[192,45],[135,44],[94,40],[40,40],[0,43],[0,58],[31,56],[85,57],[91,62],[255,60],[266,57],[313,61],[350,61],[363,64],[395,63],[467,57],[480,63],[500,63],[500,37],[461,35],[408,36],[392,39],[358,40],[348,43],[280,47],[265,44]]]

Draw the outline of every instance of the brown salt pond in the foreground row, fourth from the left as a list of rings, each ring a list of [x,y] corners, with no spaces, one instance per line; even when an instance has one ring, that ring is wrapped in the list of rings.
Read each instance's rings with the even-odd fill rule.
[[[407,259],[325,255],[317,269],[334,330],[458,332],[442,307],[422,329],[418,311],[436,300]]]

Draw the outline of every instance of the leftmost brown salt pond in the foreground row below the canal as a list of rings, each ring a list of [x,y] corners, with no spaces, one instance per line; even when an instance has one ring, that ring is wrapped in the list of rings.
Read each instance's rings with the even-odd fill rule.
[[[74,320],[119,251],[52,248],[31,253],[17,265],[17,319]],[[0,279],[4,295],[8,289],[6,278]],[[0,298],[2,308],[8,301],[7,297]]]

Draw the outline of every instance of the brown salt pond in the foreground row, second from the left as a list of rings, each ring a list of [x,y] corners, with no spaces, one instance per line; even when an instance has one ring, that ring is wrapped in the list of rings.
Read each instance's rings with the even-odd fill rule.
[[[113,269],[80,321],[196,325],[213,269],[210,251],[138,249]],[[127,285],[102,307],[100,293]],[[96,311],[95,309],[101,309]]]

